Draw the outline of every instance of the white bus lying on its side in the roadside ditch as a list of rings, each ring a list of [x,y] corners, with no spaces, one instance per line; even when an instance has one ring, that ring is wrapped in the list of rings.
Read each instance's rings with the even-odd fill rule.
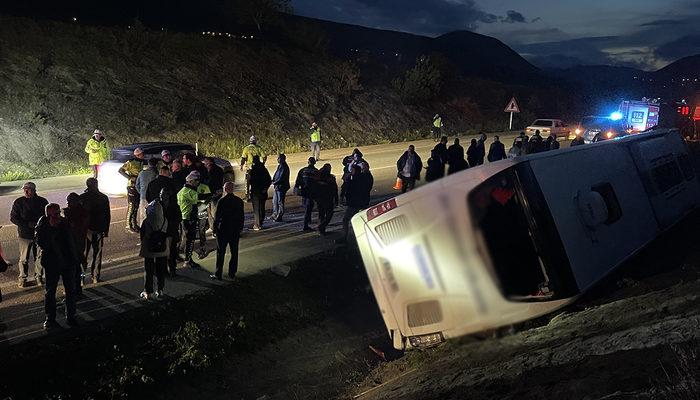
[[[676,130],[503,160],[352,220],[397,349],[531,319],[576,299],[700,203]]]

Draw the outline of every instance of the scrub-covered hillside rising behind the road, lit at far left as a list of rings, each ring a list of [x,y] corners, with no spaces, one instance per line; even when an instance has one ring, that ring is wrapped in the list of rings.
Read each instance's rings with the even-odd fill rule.
[[[82,149],[96,127],[112,146],[167,139],[236,158],[252,134],[269,152],[303,149],[313,120],[323,129],[324,146],[337,147],[426,136],[437,111],[448,132],[501,130],[502,107],[513,94],[522,94],[528,110],[517,124],[556,106],[548,89],[502,83],[498,74],[485,72],[497,67],[474,72],[487,76],[468,76],[459,65],[443,65],[430,98],[409,101],[392,81],[415,58],[400,68],[381,60],[364,68],[326,50],[347,45],[329,42],[332,34],[324,39],[328,46],[314,46],[323,38],[317,27],[297,28],[291,36],[243,40],[138,24],[97,27],[0,16],[0,180],[84,167]],[[363,40],[370,43],[378,33],[366,34]],[[402,37],[381,33],[376,43]],[[502,46],[505,56],[491,52],[494,66],[515,54]],[[418,48],[416,54],[431,50]]]

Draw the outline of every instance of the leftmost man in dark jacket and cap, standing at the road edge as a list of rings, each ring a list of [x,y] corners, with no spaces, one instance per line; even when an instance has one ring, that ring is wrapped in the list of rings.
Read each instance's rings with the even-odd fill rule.
[[[10,221],[17,225],[17,237],[19,241],[19,277],[18,285],[23,288],[27,286],[27,275],[29,274],[29,257],[34,263],[34,279],[37,285],[44,284],[44,271],[41,263],[37,262],[37,249],[34,241],[34,229],[36,223],[44,215],[45,207],[49,202],[36,194],[34,182],[27,182],[22,185],[24,196],[16,199],[12,203],[10,211]],[[61,210],[59,209],[59,212]]]

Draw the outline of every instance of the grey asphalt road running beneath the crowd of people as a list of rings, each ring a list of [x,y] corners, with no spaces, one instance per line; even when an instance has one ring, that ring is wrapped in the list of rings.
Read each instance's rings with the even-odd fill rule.
[[[512,143],[514,134],[503,134],[501,140],[508,148]],[[472,136],[461,138],[466,148]],[[452,138],[450,138],[450,143]],[[491,138],[487,145],[491,143]],[[424,162],[430,155],[430,150],[435,145],[432,140],[422,140],[406,143],[391,143],[375,146],[360,147],[364,158],[369,162],[374,175],[375,185],[372,191],[373,201],[380,201],[388,196],[396,194],[392,189],[396,179],[396,160],[401,156],[408,144],[414,144],[416,151]],[[320,165],[328,162],[333,166],[333,173],[340,180],[342,171],[341,160],[350,154],[352,149],[334,149],[321,152]],[[287,162],[292,171],[292,181],[299,169],[306,165],[308,153],[288,154]],[[274,172],[276,160],[268,159],[268,169]],[[70,192],[81,193],[84,181],[88,176],[68,176],[34,180],[37,191],[50,202],[65,205],[65,198]],[[239,188],[241,174],[236,176]],[[293,183],[293,182],[292,182]],[[422,182],[424,183],[424,181]],[[43,314],[43,291],[40,287],[32,286],[25,289],[17,287],[17,254],[16,228],[9,222],[9,213],[12,202],[21,196],[21,182],[0,184],[0,243],[4,250],[5,258],[13,265],[4,274],[0,274],[0,288],[2,289],[3,302],[0,303],[0,345],[8,345],[17,341],[44,335],[41,323]],[[78,316],[83,321],[103,320],[115,315],[132,310],[145,301],[138,295],[143,287],[143,262],[138,257],[138,235],[127,233],[125,230],[126,198],[111,197],[112,226],[110,235],[105,240],[103,252],[103,282],[84,287],[86,298],[78,303]],[[268,214],[271,202],[268,201]],[[342,209],[336,210],[333,223],[329,227],[332,234],[321,237],[315,232],[301,232],[303,213],[301,212],[301,198],[289,192],[287,197],[289,210],[286,221],[282,223],[267,223],[265,229],[259,232],[246,231],[243,234],[240,245],[239,277],[255,274],[273,266],[284,265],[295,260],[308,257],[319,252],[326,251],[335,246],[335,239],[339,237],[341,230]],[[315,220],[314,215],[314,220]],[[246,204],[246,224],[252,225],[250,204]],[[215,243],[209,241],[208,248],[213,250]],[[166,284],[166,293],[169,296],[182,296],[198,290],[206,290],[211,285],[226,284],[213,282],[208,279],[210,271],[214,270],[215,252],[201,260],[204,270],[181,270],[181,277],[169,280]],[[30,266],[31,270],[32,266]],[[32,272],[30,271],[30,276]],[[31,278],[30,278],[31,279]],[[58,290],[59,299],[62,289]],[[60,300],[59,300],[60,301]],[[59,306],[58,313],[63,312]],[[60,318],[59,318],[60,319]],[[59,321],[63,324],[64,321]]]

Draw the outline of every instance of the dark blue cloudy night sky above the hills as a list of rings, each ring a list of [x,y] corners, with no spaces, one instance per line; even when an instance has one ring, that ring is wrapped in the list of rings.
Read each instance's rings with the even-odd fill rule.
[[[656,70],[700,54],[698,0],[292,0],[296,14],[437,36],[494,36],[540,67]]]

